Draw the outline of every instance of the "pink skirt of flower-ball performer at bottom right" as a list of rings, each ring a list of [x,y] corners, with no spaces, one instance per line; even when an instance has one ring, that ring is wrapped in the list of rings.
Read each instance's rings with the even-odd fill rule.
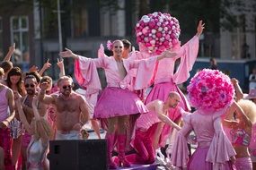
[[[192,157],[190,157],[190,161],[188,163],[188,169],[190,170],[214,170],[213,164],[206,161],[207,152],[209,148],[198,148]],[[233,170],[235,169],[232,163],[225,163],[225,170]]]

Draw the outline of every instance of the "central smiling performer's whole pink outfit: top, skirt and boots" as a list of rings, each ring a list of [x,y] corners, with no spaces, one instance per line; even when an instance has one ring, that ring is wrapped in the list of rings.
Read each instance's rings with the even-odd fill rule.
[[[122,115],[134,115],[130,116],[129,119],[134,122],[139,113],[146,113],[146,106],[140,98],[137,97],[137,94],[132,92],[129,88],[131,81],[129,71],[131,69],[137,69],[133,89],[144,89],[151,79],[156,59],[157,57],[139,61],[133,60],[132,58],[123,59],[123,65],[127,74],[122,78],[119,74],[119,68],[115,58],[113,56],[108,57],[107,55],[104,55],[104,48],[102,45],[98,51],[98,58],[92,59],[79,56],[79,59],[75,61],[75,78],[82,87],[86,88],[87,95],[98,93],[101,89],[101,83],[96,68],[102,67],[106,74],[108,85],[107,88],[103,90],[101,97],[94,107],[93,117],[97,119],[106,119]],[[129,128],[133,129],[131,126],[129,126]],[[128,130],[128,132],[132,131]],[[110,160],[111,151],[114,148],[114,134],[107,134],[105,138],[108,142],[110,167],[115,167]],[[123,160],[127,138],[124,134],[118,134],[117,139],[119,144],[119,156],[120,159]],[[128,164],[124,164],[128,166]]]

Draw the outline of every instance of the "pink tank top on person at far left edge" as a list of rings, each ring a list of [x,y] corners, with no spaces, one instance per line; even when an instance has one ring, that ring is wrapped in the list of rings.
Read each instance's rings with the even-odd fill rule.
[[[8,113],[8,100],[6,98],[6,91],[7,87],[3,86],[3,89],[0,91],[0,122],[4,121],[7,119],[9,116]]]

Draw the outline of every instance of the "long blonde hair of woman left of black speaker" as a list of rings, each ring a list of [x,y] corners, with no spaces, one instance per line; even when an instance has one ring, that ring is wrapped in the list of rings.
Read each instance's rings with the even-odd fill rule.
[[[49,122],[45,120],[43,117],[35,121],[34,133],[34,137],[36,140],[39,140],[42,136],[46,136],[50,140],[53,135]]]

